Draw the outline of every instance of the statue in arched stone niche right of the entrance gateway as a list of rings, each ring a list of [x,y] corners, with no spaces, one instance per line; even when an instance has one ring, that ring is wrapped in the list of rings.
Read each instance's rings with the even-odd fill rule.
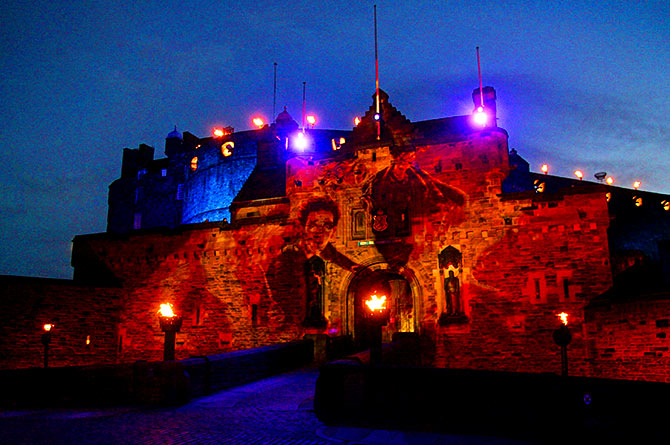
[[[444,295],[444,304],[439,323],[445,325],[466,320],[461,296],[460,271],[463,255],[453,246],[446,247],[438,255],[440,281]]]

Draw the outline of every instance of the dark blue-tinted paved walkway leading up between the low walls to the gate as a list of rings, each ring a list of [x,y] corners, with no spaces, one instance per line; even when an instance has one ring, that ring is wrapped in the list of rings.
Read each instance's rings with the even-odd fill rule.
[[[495,437],[330,427],[314,414],[315,368],[172,408],[0,411],[2,444],[520,444]]]

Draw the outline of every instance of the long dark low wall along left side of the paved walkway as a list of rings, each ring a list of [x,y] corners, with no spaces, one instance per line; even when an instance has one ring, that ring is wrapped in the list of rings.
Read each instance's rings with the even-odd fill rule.
[[[2,370],[0,406],[181,404],[312,360],[313,342],[299,340],[180,361]]]

